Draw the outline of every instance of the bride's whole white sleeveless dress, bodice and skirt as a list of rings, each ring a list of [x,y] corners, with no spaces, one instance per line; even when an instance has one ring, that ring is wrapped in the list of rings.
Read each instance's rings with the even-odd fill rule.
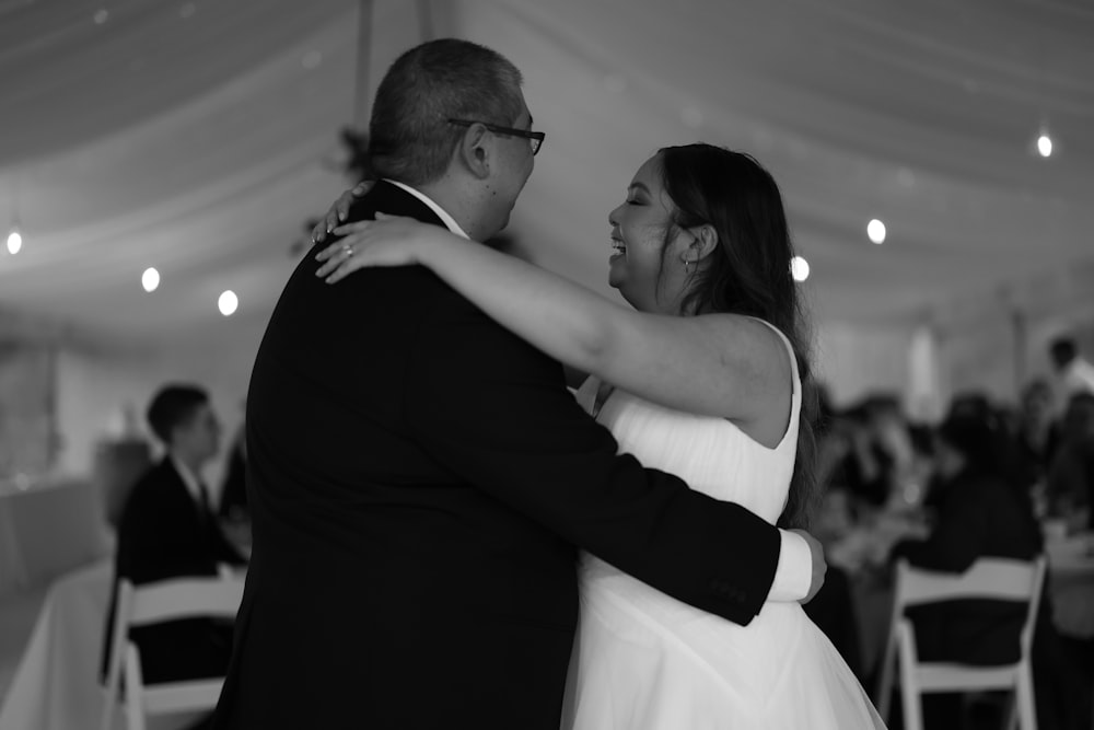
[[[778,332],[778,331],[777,331]],[[790,343],[779,334],[791,351]],[[598,383],[578,399],[592,413]],[[776,449],[722,418],[614,391],[597,420],[621,452],[737,502],[772,524],[794,466],[801,384]],[[767,603],[747,626],[684,604],[583,554],[581,614],[563,728],[703,730],[884,728],[858,680],[798,603]]]

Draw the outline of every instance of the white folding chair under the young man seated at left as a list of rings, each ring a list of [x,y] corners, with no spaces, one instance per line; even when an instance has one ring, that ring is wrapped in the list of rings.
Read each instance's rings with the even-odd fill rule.
[[[140,651],[129,640],[129,629],[193,617],[234,618],[243,600],[243,579],[179,578],[135,587],[118,581],[110,662],[102,730],[110,730],[118,690],[125,672],[126,719],[129,730],[144,730],[146,717],[213,709],[224,677],[187,680],[144,685]]]

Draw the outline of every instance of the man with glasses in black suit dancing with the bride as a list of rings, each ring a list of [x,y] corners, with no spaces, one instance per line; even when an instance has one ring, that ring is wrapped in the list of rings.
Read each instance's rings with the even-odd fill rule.
[[[385,179],[350,218],[494,235],[543,141],[520,83],[475,44],[404,54],[371,120]],[[254,554],[216,727],[557,729],[574,546],[741,624],[772,582],[819,586],[812,544],[616,456],[557,362],[431,273],[316,268],[252,375]]]

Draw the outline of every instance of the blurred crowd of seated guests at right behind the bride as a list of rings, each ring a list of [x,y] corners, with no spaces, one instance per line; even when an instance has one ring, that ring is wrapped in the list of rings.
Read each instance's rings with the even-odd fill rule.
[[[848,647],[868,686],[887,621],[871,636],[877,617],[863,614],[884,615],[884,602],[871,606],[863,595],[892,591],[896,559],[961,572],[980,557],[1033,559],[1047,541],[1092,534],[1094,368],[1070,339],[1052,343],[1050,355],[1055,378],[1026,384],[1017,403],[957,393],[938,424],[915,422],[892,394],[840,410],[822,397],[819,471],[827,488],[813,532],[826,545],[835,584],[847,584],[858,600],[842,611],[813,610],[814,619]],[[1051,591],[1044,594],[1033,657],[1038,725],[1089,728],[1094,636],[1069,636],[1054,623]],[[865,624],[854,633],[863,646],[825,626],[847,611]],[[1023,610],[992,611],[947,605],[911,616],[920,658],[1014,661]],[[953,705],[958,699],[927,703],[929,727],[966,727]]]

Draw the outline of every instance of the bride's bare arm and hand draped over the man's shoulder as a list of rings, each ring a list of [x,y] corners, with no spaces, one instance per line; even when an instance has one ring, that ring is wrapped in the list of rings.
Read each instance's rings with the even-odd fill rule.
[[[364,266],[421,264],[491,318],[566,364],[656,403],[749,420],[788,393],[790,361],[763,323],[733,314],[648,314],[513,256],[409,219],[336,229],[317,257],[334,282]]]

